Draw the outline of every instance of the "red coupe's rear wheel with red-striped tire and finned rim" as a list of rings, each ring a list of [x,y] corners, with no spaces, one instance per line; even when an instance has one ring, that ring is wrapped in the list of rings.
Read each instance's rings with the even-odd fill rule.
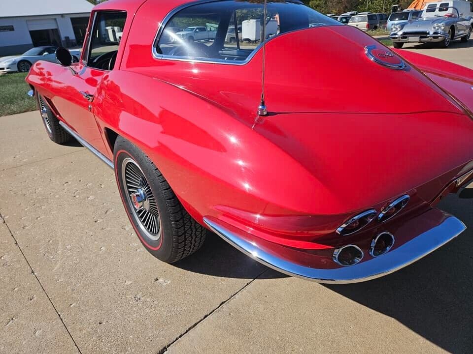
[[[206,229],[182,207],[168,181],[146,154],[118,137],[114,166],[125,211],[148,252],[163,262],[173,263],[202,246]]]

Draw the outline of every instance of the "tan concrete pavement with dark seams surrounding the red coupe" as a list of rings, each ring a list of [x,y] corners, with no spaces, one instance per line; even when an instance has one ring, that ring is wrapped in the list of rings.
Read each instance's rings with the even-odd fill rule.
[[[461,52],[441,56],[472,66]],[[0,354],[473,353],[471,199],[440,205],[465,233],[367,283],[286,277],[217,236],[167,265],[99,159],[50,142],[38,112],[0,127]]]

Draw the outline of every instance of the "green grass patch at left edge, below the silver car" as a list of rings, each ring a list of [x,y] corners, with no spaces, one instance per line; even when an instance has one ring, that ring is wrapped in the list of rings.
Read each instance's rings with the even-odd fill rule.
[[[0,75],[0,117],[34,111],[36,101],[26,93],[30,87],[25,82],[26,73]]]

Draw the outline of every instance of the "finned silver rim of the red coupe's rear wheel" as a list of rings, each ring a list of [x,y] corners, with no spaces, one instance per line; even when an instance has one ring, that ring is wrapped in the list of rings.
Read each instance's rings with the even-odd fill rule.
[[[123,160],[121,170],[127,203],[138,227],[150,239],[158,240],[161,237],[161,220],[149,182],[135,160],[129,157]]]

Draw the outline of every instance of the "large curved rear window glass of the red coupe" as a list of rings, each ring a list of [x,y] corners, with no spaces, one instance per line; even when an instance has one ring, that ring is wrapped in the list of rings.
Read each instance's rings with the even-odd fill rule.
[[[245,61],[264,39],[311,27],[342,26],[302,3],[269,1],[263,38],[264,1],[224,0],[191,5],[175,13],[155,45],[155,55],[169,59]],[[175,32],[175,28],[203,28]],[[236,30],[237,29],[237,30]]]

